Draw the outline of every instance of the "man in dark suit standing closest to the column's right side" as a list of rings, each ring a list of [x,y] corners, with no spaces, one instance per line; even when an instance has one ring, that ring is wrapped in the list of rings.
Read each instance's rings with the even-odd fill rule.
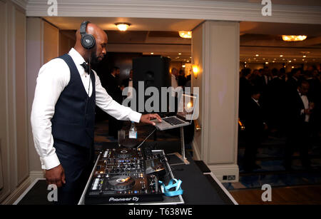
[[[263,131],[267,129],[267,125],[259,99],[260,88],[252,86],[251,96],[248,98],[244,117],[245,154],[243,165],[246,171],[260,168],[259,165],[255,164],[255,158],[263,137]]]

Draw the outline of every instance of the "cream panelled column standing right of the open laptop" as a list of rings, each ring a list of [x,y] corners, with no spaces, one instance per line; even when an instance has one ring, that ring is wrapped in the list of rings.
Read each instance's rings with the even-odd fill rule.
[[[192,85],[200,87],[202,127],[193,148],[222,182],[238,181],[239,50],[238,22],[205,21],[193,30],[193,63],[200,73]]]

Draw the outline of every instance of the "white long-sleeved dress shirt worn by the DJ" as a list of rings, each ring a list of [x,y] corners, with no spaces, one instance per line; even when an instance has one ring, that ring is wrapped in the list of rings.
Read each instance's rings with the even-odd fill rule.
[[[91,79],[81,66],[81,63],[85,60],[75,49],[71,49],[69,55],[76,64],[86,92],[91,96],[93,92],[93,86],[89,86]],[[96,81],[96,106],[118,120],[130,120],[138,123],[141,120],[141,113],[113,101],[113,98],[101,86],[97,73],[95,71],[93,73]],[[51,118],[54,116],[56,102],[61,92],[70,81],[70,76],[71,73],[67,63],[61,58],[54,58],[40,68],[36,81],[31,111],[31,126],[34,145],[40,156],[41,168],[46,170],[60,164],[54,148],[54,138],[51,134]]]

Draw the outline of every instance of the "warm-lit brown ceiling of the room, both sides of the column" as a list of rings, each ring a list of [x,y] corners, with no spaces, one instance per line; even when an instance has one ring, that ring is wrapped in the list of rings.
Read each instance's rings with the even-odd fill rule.
[[[282,2],[295,4],[300,1]],[[312,4],[312,1],[305,2]],[[183,62],[190,61],[191,40],[180,38],[178,31],[192,31],[203,22],[203,20],[196,19],[58,16],[44,17],[44,19],[66,33],[70,30],[74,33],[83,20],[88,20],[101,26],[107,32],[108,51],[153,53]],[[131,23],[128,31],[121,32],[116,29],[114,24],[121,21]],[[302,42],[285,42],[281,39],[282,34],[307,35],[307,39]],[[255,56],[256,54],[259,56]],[[303,58],[303,55],[307,57]],[[248,62],[321,62],[321,25],[241,21],[240,61],[245,60]]]

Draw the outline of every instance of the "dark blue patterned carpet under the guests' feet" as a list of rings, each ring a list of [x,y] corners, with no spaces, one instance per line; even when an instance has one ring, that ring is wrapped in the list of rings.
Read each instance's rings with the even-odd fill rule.
[[[238,165],[240,178],[238,183],[223,183],[228,190],[241,188],[261,188],[264,184],[272,187],[291,185],[321,185],[321,145],[320,141],[314,143],[309,151],[311,170],[302,168],[300,154],[293,154],[292,170],[287,171],[283,166],[285,138],[269,136],[258,149],[256,164],[261,168],[247,173],[243,169],[243,156],[245,148],[240,143],[238,148]]]

